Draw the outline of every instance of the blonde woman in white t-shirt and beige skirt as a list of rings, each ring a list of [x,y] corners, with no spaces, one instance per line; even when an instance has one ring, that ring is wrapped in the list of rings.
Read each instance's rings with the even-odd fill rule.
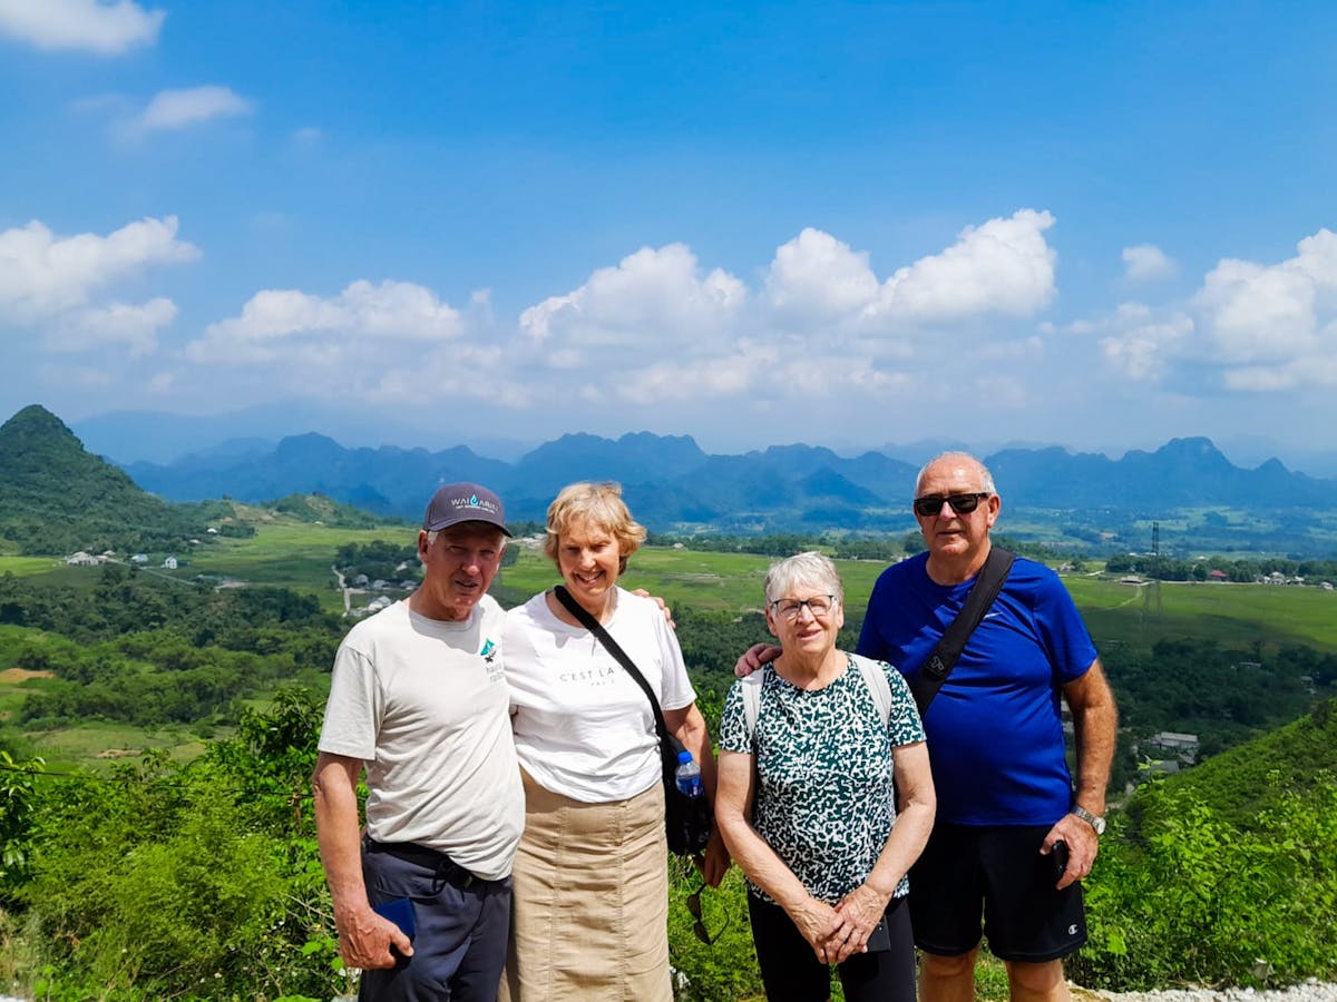
[[[548,508],[544,552],[570,596],[654,689],[668,729],[715,792],[715,759],[682,651],[652,599],[618,585],[646,538],[616,484],[572,484]],[[654,711],[599,639],[550,589],[503,636],[525,791],[501,998],[668,1002],[668,870]],[[702,863],[718,884],[718,834]]]

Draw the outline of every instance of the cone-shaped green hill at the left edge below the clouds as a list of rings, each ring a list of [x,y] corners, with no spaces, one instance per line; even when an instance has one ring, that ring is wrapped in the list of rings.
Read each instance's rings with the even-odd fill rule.
[[[205,532],[207,506],[142,490],[41,406],[0,425],[0,538],[24,553],[163,550]]]

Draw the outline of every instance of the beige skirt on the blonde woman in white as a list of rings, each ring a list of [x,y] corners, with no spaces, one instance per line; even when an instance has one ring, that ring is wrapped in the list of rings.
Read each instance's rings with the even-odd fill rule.
[[[497,998],[671,1002],[663,787],[587,804],[523,776],[524,838]]]

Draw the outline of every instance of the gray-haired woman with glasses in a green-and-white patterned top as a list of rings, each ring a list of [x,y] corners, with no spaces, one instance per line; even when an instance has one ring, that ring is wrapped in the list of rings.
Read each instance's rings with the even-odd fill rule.
[[[842,603],[821,553],[767,572],[783,652],[725,700],[715,819],[747,876],[769,999],[829,998],[837,965],[849,1002],[913,1002],[905,874],[933,827],[933,779],[900,672],[836,647]]]

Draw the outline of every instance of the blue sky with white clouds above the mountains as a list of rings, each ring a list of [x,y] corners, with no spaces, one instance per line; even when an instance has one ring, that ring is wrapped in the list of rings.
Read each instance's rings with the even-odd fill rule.
[[[1334,41],[1328,3],[0,0],[0,411],[1304,468]]]

